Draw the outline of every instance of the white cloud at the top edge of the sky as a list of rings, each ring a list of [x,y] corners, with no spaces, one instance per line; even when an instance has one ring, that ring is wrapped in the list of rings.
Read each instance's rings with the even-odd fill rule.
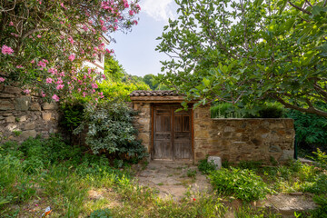
[[[172,3],[173,0],[141,0],[141,11],[150,15],[157,21],[168,21],[168,18],[173,18]]]

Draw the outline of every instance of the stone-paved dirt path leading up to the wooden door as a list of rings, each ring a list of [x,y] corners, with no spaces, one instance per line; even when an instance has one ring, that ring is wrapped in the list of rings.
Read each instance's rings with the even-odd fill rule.
[[[205,192],[212,189],[205,175],[193,164],[151,162],[137,178],[140,184],[158,190],[160,197],[172,196],[174,200],[181,199],[188,190]]]

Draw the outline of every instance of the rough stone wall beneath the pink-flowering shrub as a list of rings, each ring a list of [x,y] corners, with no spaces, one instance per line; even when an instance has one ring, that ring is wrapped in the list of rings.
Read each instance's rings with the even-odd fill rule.
[[[56,104],[42,103],[22,90],[0,84],[0,143],[6,140],[22,142],[40,134],[48,137],[58,132]]]

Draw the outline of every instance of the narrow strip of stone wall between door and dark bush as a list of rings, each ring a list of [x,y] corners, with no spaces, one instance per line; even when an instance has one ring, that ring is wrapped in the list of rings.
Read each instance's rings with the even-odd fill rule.
[[[137,139],[142,140],[146,151],[151,153],[151,104],[134,103],[133,109],[139,114],[134,117],[134,127],[138,130]]]

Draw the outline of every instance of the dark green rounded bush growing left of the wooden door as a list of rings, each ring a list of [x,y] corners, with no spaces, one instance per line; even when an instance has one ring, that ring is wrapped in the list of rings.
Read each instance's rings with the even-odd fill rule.
[[[135,139],[132,124],[134,110],[122,102],[87,105],[84,122],[74,130],[79,134],[87,128],[85,143],[94,154],[111,154],[118,159],[135,162],[144,158],[145,148]]]

